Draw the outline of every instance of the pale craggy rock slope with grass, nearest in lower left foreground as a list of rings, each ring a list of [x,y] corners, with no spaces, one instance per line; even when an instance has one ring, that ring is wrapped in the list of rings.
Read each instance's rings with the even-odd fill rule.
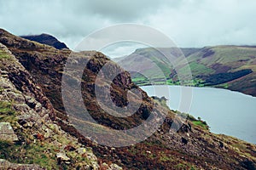
[[[99,168],[91,148],[53,121],[42,88],[2,43],[0,60],[0,169]]]

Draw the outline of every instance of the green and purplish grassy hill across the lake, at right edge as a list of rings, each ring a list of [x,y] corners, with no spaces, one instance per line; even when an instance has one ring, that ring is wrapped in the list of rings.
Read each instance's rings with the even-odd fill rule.
[[[209,75],[209,73],[211,75],[211,72],[207,71],[208,69],[214,70],[215,73],[236,72],[249,69],[253,72],[228,82],[219,83],[218,85],[215,85],[215,87],[229,88],[244,94],[256,95],[256,90],[253,88],[256,85],[256,48],[218,46],[205,49],[211,50],[214,54],[204,57],[208,51],[201,50],[188,57],[190,64],[196,62],[207,67],[207,69],[199,67],[193,69],[193,67],[191,67],[194,77]],[[213,76],[213,74],[211,76]],[[209,78],[211,78],[211,76],[209,76]]]

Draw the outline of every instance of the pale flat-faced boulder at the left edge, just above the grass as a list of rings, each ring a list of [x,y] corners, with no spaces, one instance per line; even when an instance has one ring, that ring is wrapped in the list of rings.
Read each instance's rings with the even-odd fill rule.
[[[18,140],[18,137],[9,122],[0,122],[0,139],[9,141]]]

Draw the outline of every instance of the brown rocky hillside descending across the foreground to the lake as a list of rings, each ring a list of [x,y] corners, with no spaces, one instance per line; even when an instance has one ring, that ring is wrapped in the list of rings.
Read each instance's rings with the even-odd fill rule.
[[[113,102],[125,107],[127,90],[131,88],[143,94],[143,102],[132,116],[109,115],[96,102],[95,88],[104,88],[105,84],[103,80],[95,83],[96,76],[106,63],[112,68],[108,75],[120,68],[104,54],[82,52],[75,54],[73,62],[79,63],[81,58],[88,61],[81,94],[85,107],[96,120],[95,124],[83,122],[85,127],[96,126],[98,131],[129,129],[137,127],[149,116],[166,114],[162,126],[143,142],[119,148],[97,144],[90,140],[90,134],[82,135],[73,127],[72,117],[67,116],[62,102],[61,77],[71,51],[15,37],[4,30],[0,30],[0,43],[0,122],[13,129],[6,131],[4,127],[0,130],[6,137],[0,139],[0,166],[5,166],[3,168],[255,169],[255,144],[210,133],[207,127],[195,123],[199,120],[190,116],[176,132],[171,126],[181,123],[174,118],[180,113],[169,111],[166,105],[149,98],[131,82],[126,71],[111,83]],[[76,70],[73,73],[76,75]],[[76,78],[71,76],[71,82]],[[130,95],[134,96],[131,102],[136,102],[138,94]],[[108,140],[111,135],[99,136],[98,142]],[[13,138],[9,139],[9,136]],[[119,138],[116,140],[119,142]]]

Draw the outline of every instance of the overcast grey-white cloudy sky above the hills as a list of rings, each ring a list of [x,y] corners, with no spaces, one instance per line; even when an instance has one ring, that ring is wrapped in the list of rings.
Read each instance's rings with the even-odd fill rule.
[[[178,47],[256,45],[255,8],[255,0],[0,0],[0,27],[15,35],[49,33],[69,48],[122,23],[151,26]],[[112,54],[133,50],[125,44]]]

